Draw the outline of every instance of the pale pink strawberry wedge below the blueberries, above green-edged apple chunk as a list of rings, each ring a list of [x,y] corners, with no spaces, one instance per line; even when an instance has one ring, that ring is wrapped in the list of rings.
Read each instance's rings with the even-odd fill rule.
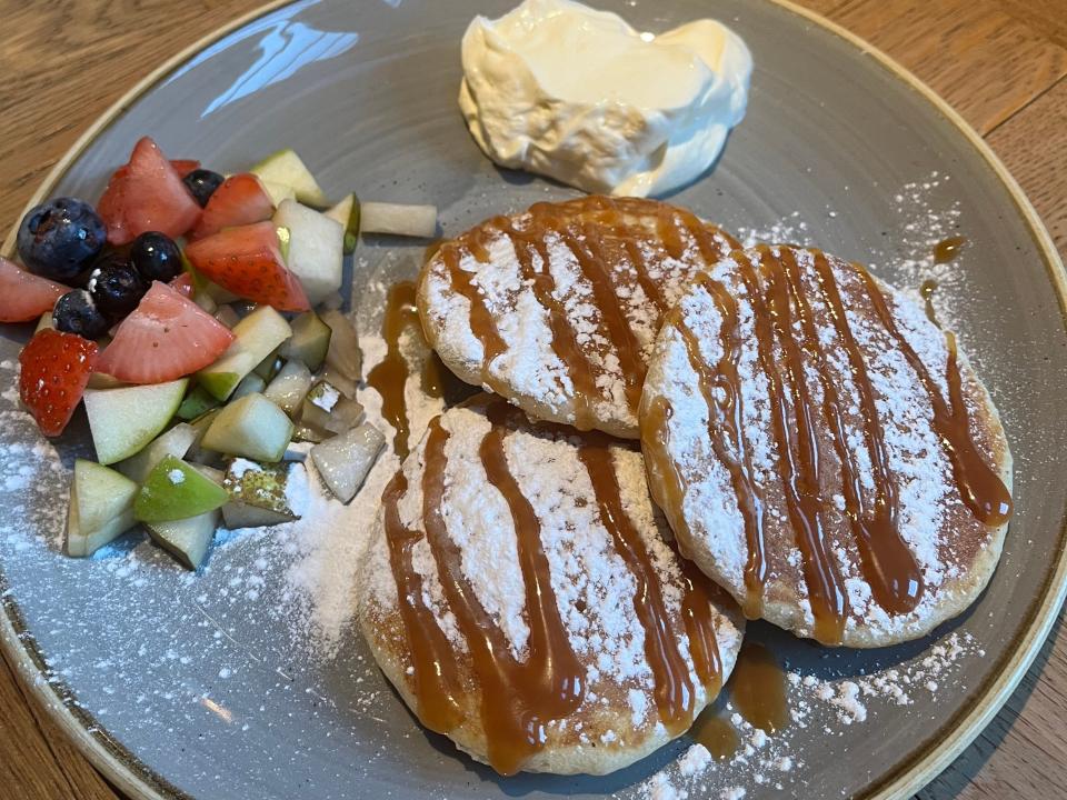
[[[215,317],[154,281],[116,330],[97,371],[127,383],[162,383],[203,369],[232,341]]]

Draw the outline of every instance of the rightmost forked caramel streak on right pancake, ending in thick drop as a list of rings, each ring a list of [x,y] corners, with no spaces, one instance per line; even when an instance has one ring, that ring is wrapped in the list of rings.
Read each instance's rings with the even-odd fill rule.
[[[970,438],[970,418],[967,403],[964,401],[963,377],[957,362],[955,334],[945,332],[948,348],[946,363],[948,400],[946,400],[926,366],[897,328],[893,312],[875,279],[859,264],[854,267],[864,281],[867,297],[870,298],[871,306],[882,326],[896,340],[897,347],[930,398],[930,406],[934,409],[934,432],[937,433],[937,438],[948,453],[964,503],[979,521],[988,526],[1004,524],[1011,517],[1011,494],[1000,480],[1000,476],[986,463]]]

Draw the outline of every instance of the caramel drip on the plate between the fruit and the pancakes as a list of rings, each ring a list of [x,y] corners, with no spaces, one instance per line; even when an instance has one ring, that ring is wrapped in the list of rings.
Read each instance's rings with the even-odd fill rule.
[[[389,288],[386,316],[381,322],[381,336],[386,340],[386,357],[367,376],[367,383],[381,396],[381,416],[396,434],[392,450],[401,459],[408,457],[408,403],[405,387],[408,382],[408,361],[400,351],[400,338],[406,330],[422,336],[419,313],[416,308],[415,283],[401,281]]]

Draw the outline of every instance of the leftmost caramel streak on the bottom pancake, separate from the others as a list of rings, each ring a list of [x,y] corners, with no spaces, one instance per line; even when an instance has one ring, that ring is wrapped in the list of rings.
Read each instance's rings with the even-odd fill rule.
[[[463,711],[456,659],[433,613],[422,602],[422,578],[411,563],[411,548],[421,538],[400,521],[397,506],[408,489],[403,470],[397,471],[381,497],[389,563],[397,582],[397,601],[411,658],[416,712],[430,730],[448,733],[462,723]]]

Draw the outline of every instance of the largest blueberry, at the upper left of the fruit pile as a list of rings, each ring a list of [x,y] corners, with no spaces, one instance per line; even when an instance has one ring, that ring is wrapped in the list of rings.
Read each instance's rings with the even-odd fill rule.
[[[108,238],[103,220],[77,198],[34,206],[19,226],[22,263],[54,281],[73,280],[97,257]]]

